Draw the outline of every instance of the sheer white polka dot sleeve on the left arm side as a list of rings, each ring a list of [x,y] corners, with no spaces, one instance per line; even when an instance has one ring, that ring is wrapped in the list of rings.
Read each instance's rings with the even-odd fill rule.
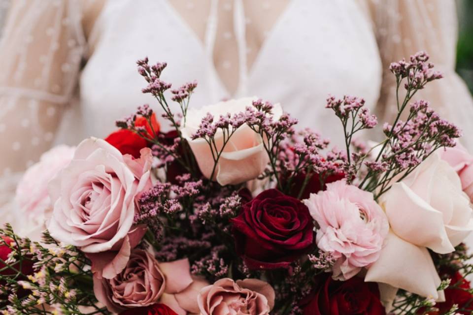
[[[51,146],[76,86],[85,47],[80,6],[11,1],[0,39],[0,205],[15,174]]]

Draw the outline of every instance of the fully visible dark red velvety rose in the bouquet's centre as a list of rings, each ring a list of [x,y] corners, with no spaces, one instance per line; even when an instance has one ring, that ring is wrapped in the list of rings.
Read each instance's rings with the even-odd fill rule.
[[[307,207],[276,189],[244,204],[232,223],[236,251],[250,269],[287,268],[314,241]]]

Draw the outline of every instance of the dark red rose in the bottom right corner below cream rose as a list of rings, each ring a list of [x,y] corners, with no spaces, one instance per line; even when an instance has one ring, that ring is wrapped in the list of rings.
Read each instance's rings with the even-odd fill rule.
[[[446,314],[453,304],[458,305],[458,314],[473,314],[473,295],[467,291],[471,288],[470,282],[463,278],[458,271],[447,276],[451,279],[451,282],[450,286],[444,290],[445,302],[436,303],[435,308],[439,311],[429,311],[429,315]],[[420,309],[418,314],[424,314],[424,311],[424,309]]]

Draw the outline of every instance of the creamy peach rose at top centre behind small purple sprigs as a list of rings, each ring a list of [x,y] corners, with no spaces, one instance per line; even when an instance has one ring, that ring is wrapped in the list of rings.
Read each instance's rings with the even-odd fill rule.
[[[215,119],[220,115],[237,114],[244,112],[246,107],[252,106],[255,97],[232,99],[220,102],[214,105],[204,106],[201,109],[189,109],[185,125],[181,128],[184,138],[197,159],[199,168],[206,178],[212,175],[214,159],[208,143],[200,138],[192,140],[192,135],[198,130],[198,127],[207,113],[212,114]],[[279,104],[273,107],[273,119],[277,120],[282,114]],[[217,151],[223,146],[223,134],[219,129],[215,135]],[[226,144],[222,155],[217,163],[216,171],[212,180],[220,185],[240,184],[254,179],[260,175],[269,162],[268,154],[263,147],[262,137],[254,132],[246,124],[236,129],[235,133]]]

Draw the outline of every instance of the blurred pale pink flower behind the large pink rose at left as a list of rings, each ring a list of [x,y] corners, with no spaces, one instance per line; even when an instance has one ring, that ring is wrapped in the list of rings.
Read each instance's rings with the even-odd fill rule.
[[[31,217],[41,217],[52,210],[48,183],[68,166],[75,147],[59,145],[44,153],[39,162],[28,168],[16,187],[15,200],[20,211]]]

